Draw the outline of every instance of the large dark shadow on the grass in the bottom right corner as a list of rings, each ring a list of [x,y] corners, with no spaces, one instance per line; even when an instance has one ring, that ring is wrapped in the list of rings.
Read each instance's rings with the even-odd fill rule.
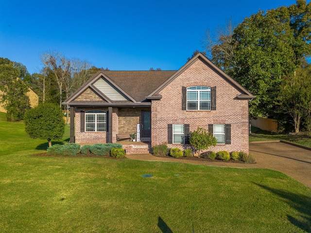
[[[288,220],[292,224],[294,224],[296,227],[299,227],[301,230],[305,232],[311,232],[311,212],[310,212],[311,198],[310,197],[295,194],[295,193],[288,192],[285,190],[271,188],[271,187],[261,185],[258,183],[255,183],[255,184],[283,198],[284,201],[289,206],[291,206],[293,209],[295,209],[300,215],[299,218],[287,215]]]

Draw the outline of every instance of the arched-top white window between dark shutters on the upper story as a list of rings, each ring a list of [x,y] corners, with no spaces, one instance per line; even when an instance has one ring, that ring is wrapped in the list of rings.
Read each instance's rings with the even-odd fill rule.
[[[188,87],[187,110],[210,110],[210,87]]]

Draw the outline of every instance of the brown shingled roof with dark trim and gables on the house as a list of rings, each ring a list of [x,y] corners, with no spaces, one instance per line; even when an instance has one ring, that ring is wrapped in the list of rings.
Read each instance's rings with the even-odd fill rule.
[[[122,105],[150,105],[148,100],[161,99],[159,92],[169,83],[190,67],[197,59],[201,59],[214,72],[218,73],[227,82],[237,88],[241,95],[237,99],[256,98],[249,93],[239,83],[225,74],[220,68],[209,61],[202,53],[198,53],[179,70],[172,71],[98,71],[92,78],[84,83],[75,93],[73,93],[63,104],[86,106],[102,105],[122,106]],[[101,88],[109,88],[109,93],[104,94]],[[88,92],[96,97],[94,100],[79,99],[80,95]],[[96,95],[96,96],[95,96]],[[115,99],[113,100],[114,97]]]

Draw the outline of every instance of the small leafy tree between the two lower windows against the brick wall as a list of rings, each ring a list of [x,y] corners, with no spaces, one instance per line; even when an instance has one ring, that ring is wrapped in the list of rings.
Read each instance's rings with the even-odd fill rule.
[[[195,150],[207,150],[211,146],[216,146],[217,140],[211,132],[198,127],[197,130],[190,132],[190,144]]]

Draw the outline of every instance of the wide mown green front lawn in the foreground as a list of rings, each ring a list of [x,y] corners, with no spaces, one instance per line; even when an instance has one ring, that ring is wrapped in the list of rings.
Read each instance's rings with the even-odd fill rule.
[[[0,120],[0,134],[3,124],[22,128]],[[277,171],[38,157],[19,134],[30,145],[0,155],[4,233],[311,231],[311,189]]]

